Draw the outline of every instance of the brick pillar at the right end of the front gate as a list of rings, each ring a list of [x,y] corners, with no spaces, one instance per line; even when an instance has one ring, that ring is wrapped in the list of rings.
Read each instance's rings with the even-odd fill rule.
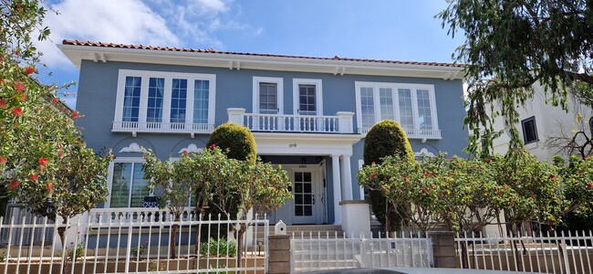
[[[452,231],[433,231],[428,234],[432,238],[432,256],[435,268],[457,268],[455,258],[455,240]]]

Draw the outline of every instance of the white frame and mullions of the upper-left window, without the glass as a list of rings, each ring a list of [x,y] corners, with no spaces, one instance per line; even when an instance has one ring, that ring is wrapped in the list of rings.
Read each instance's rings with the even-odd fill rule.
[[[140,113],[138,114],[139,122],[146,121],[146,111],[148,108],[149,79],[165,79],[164,94],[162,97],[162,122],[164,123],[171,121],[172,79],[187,79],[188,81],[186,98],[187,103],[185,105],[185,123],[193,123],[193,85],[195,80],[209,80],[210,84],[208,94],[208,124],[214,124],[214,108],[216,106],[215,74],[120,69],[118,76],[118,95],[116,99],[114,121],[122,120],[121,116],[123,112],[123,100],[126,85],[126,77],[140,77],[142,79],[140,86]]]

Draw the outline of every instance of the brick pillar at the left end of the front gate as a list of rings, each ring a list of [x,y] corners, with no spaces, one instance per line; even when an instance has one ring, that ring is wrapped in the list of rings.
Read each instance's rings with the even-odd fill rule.
[[[290,236],[273,235],[269,237],[268,248],[268,273],[290,273]]]

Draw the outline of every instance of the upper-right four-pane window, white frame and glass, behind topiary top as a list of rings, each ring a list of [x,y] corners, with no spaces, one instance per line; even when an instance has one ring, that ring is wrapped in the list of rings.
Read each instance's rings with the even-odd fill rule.
[[[407,132],[439,129],[432,85],[357,81],[355,89],[359,132],[388,119]]]

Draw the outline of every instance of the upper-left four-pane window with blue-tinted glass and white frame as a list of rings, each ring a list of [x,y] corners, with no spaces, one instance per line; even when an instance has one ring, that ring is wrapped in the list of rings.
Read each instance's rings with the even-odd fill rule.
[[[114,121],[141,123],[214,123],[216,76],[120,69]]]

